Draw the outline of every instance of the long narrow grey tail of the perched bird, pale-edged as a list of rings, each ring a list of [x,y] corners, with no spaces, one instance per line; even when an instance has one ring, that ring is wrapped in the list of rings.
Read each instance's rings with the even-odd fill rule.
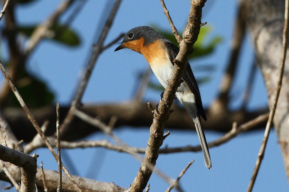
[[[205,165],[207,166],[208,169],[210,169],[212,167],[211,157],[210,157],[209,148],[208,148],[207,140],[205,137],[205,133],[204,133],[204,130],[202,128],[202,122],[200,119],[200,115],[198,113],[196,113],[196,118],[193,119],[193,121],[195,122],[195,127],[197,130],[198,136],[199,136],[202,150],[203,150]]]

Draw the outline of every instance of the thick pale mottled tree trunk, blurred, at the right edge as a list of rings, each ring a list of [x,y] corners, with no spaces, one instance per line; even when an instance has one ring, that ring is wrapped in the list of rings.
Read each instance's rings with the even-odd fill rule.
[[[284,28],[284,0],[247,0],[247,26],[265,81],[271,108],[279,75]],[[288,53],[288,50],[287,50]],[[273,119],[289,180],[289,54],[286,56],[282,88]]]

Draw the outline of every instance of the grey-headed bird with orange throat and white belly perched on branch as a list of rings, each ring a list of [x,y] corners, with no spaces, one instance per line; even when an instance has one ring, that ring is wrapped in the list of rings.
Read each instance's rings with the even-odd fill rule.
[[[179,53],[179,48],[174,43],[149,26],[138,26],[126,33],[123,41],[114,51],[124,48],[142,54],[162,86],[167,87],[167,81],[174,66],[173,60]],[[177,88],[175,96],[183,104],[195,124],[205,166],[210,169],[212,167],[211,157],[200,116],[205,121],[207,121],[207,117],[203,109],[199,87],[189,63],[184,70],[181,85]]]

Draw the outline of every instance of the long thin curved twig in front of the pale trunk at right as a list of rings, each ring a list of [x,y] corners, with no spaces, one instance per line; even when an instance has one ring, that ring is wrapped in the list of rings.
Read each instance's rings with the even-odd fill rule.
[[[280,94],[280,90],[281,90],[281,86],[282,86],[282,79],[283,79],[283,74],[284,74],[284,66],[285,66],[286,52],[287,52],[287,40],[288,40],[288,34],[287,34],[288,14],[289,14],[288,13],[288,7],[289,7],[288,3],[289,3],[289,0],[286,0],[285,1],[285,13],[284,13],[282,56],[281,56],[281,62],[280,62],[279,78],[278,78],[278,82],[277,82],[276,91],[275,91],[274,95],[272,95],[274,97],[274,102],[273,102],[273,106],[272,106],[270,113],[269,113],[269,119],[268,119],[268,122],[266,124],[265,132],[264,132],[264,138],[263,138],[263,141],[262,141],[262,144],[260,147],[260,151],[258,153],[256,165],[255,165],[255,168],[254,168],[252,178],[250,180],[247,192],[251,192],[253,189],[257,174],[259,172],[260,165],[261,165],[263,157],[264,157],[264,152],[265,152],[265,148],[266,148],[269,133],[270,133],[270,128],[272,126],[273,117],[275,115],[277,102],[278,102],[278,98],[279,98],[279,94]]]

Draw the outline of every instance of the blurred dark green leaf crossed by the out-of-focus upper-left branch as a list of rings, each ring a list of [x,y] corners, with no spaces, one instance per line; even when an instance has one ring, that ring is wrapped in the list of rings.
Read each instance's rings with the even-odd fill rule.
[[[37,25],[33,26],[18,26],[18,31],[24,35],[30,37]],[[80,39],[72,29],[68,26],[63,26],[60,24],[55,24],[50,28],[51,32],[54,34],[52,39],[54,41],[63,43],[69,46],[77,46],[80,44]]]

